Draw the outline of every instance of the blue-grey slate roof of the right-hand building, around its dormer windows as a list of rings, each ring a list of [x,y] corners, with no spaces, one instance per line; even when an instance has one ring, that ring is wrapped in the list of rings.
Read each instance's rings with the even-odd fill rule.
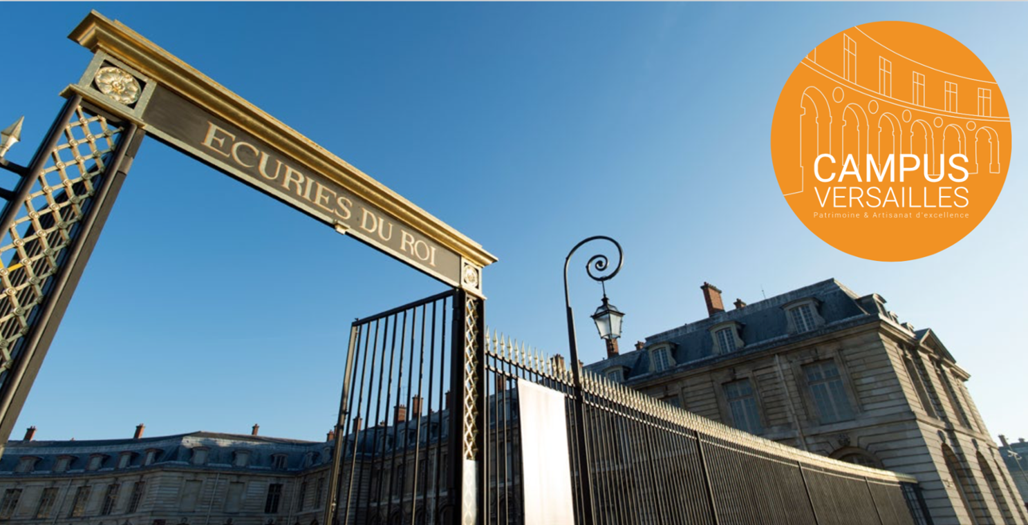
[[[824,318],[824,325],[810,332],[790,334],[783,306],[808,298],[818,301],[818,313]],[[914,328],[902,325],[895,314],[885,310],[884,303],[885,300],[877,294],[861,297],[842,283],[830,278],[652,335],[646,338],[641,350],[632,350],[592,363],[587,365],[586,369],[593,373],[604,374],[614,367],[623,367],[625,382],[630,383],[634,380],[673,375],[682,370],[759,352],[796,340],[878,320],[888,322],[909,332],[911,337],[915,337]],[[709,330],[726,322],[736,322],[741,325],[739,336],[744,343],[743,347],[736,351],[714,354],[713,338]],[[922,337],[928,332],[927,329],[918,331]],[[660,373],[653,373],[650,370],[649,349],[665,342],[673,343],[672,357],[675,365]]]

